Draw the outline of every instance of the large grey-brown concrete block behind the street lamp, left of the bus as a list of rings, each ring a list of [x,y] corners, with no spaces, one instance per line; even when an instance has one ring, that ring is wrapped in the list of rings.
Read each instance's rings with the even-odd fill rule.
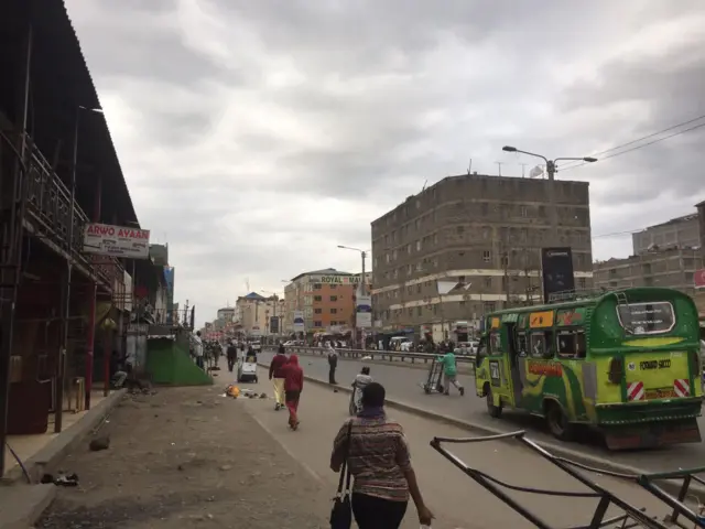
[[[555,186],[557,235],[549,185]],[[571,247],[576,287],[590,287],[586,182],[448,176],[372,222],[375,320],[387,331],[431,326],[440,337],[447,335],[446,322],[533,302],[546,246]],[[462,287],[440,295],[437,281]]]

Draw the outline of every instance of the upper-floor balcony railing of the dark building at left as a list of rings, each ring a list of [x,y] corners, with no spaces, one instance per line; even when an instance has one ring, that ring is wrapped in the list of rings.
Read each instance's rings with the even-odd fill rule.
[[[26,206],[28,213],[39,224],[39,235],[48,239],[94,273],[112,290],[116,277],[121,282],[122,266],[112,257],[88,256],[84,253],[84,231],[88,216],[74,203],[70,217],[70,190],[61,181],[42,152],[28,136],[30,147]],[[69,239],[70,223],[73,231]]]

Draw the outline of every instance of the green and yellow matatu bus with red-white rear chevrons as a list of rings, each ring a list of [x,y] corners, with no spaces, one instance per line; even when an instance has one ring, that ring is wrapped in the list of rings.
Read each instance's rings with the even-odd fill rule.
[[[476,358],[477,396],[543,417],[568,441],[579,424],[611,450],[699,442],[699,328],[675,290],[626,289],[492,312]]]

